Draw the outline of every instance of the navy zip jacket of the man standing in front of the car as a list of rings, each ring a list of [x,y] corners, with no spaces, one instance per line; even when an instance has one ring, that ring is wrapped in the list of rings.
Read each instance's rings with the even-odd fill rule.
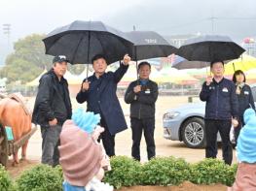
[[[226,120],[238,117],[238,96],[235,83],[222,79],[216,82],[213,79],[210,85],[202,84],[201,101],[206,102],[205,119]]]

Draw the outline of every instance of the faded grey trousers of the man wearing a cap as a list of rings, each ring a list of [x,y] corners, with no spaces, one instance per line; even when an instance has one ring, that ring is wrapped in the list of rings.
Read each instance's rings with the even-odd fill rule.
[[[57,146],[59,145],[59,134],[62,126],[48,126],[41,127],[42,135],[42,159],[43,164],[48,164],[53,167],[59,164],[59,152]]]

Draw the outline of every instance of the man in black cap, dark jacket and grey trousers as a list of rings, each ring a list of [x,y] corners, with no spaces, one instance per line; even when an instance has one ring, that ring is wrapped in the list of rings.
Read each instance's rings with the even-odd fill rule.
[[[67,70],[64,55],[55,56],[53,68],[40,79],[32,122],[41,126],[42,163],[58,165],[59,134],[62,124],[71,118],[71,102],[67,80],[63,78]]]

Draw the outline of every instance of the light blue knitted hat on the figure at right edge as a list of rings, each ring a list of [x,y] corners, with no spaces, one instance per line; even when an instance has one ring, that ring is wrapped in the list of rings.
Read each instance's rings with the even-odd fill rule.
[[[256,162],[256,113],[247,109],[243,114],[245,125],[238,136],[238,160],[240,162]]]

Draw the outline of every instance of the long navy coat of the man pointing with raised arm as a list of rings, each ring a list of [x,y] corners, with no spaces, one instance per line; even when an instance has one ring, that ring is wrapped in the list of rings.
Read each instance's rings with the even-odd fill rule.
[[[76,97],[80,104],[87,102],[88,111],[103,115],[111,135],[128,128],[116,93],[117,83],[127,71],[128,66],[121,64],[115,73],[105,73],[99,79],[95,77],[95,74],[92,75],[88,78],[91,82],[89,90],[83,92],[81,89]]]

